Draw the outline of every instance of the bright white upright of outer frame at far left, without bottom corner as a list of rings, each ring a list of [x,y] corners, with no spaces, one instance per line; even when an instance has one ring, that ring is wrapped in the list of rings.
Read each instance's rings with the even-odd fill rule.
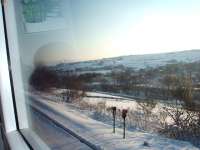
[[[0,90],[5,130],[6,132],[12,132],[17,127],[10,84],[2,7],[0,7],[0,68]]]

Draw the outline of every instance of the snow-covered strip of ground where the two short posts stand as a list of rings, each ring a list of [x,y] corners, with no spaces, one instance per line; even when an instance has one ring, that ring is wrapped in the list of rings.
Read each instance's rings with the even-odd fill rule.
[[[105,96],[105,95],[104,95]],[[172,140],[156,134],[150,134],[139,130],[126,131],[126,139],[122,138],[122,129],[117,128],[116,133],[112,133],[112,126],[94,120],[81,113],[75,107],[66,103],[57,103],[47,100],[41,95],[32,95],[32,106],[48,117],[56,120],[63,127],[70,129],[77,135],[86,139],[90,143],[108,150],[197,150],[188,142]],[[95,99],[93,99],[95,101]],[[114,100],[111,98],[110,100]],[[117,101],[118,103],[119,101]],[[123,103],[123,102],[122,102]],[[127,103],[127,102],[126,102]],[[124,103],[124,106],[125,104]],[[113,101],[110,102],[113,105]],[[130,104],[128,104],[130,106]],[[121,106],[121,104],[120,104]],[[127,104],[126,104],[127,106]],[[53,138],[53,137],[52,137]],[[144,142],[150,146],[144,146]]]

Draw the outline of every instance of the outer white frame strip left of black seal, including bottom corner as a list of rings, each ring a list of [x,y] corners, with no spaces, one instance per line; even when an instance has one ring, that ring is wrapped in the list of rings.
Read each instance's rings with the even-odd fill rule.
[[[17,124],[13,105],[7,46],[5,39],[3,10],[0,7],[0,96],[3,112],[3,121],[9,146],[13,150],[28,150],[23,138],[17,132]],[[18,146],[16,146],[18,145]]]

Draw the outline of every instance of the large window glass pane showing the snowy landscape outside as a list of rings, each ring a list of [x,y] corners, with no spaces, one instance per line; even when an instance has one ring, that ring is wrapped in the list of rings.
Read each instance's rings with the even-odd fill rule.
[[[199,1],[13,4],[21,129],[51,149],[200,147]]]

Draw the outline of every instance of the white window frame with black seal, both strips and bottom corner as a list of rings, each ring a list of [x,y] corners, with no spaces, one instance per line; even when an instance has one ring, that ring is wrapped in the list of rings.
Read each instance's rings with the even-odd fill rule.
[[[2,7],[0,1],[0,96],[5,132],[11,150],[46,150],[48,146],[29,130],[14,2],[6,1]]]

